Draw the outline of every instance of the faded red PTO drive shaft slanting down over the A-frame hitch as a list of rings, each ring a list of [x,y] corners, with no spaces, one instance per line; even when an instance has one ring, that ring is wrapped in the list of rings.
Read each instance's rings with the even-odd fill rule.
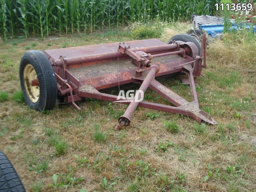
[[[155,74],[159,72],[159,67],[155,64],[150,66],[150,71],[148,72],[146,78],[144,79],[144,81],[142,82],[140,88],[138,90],[145,92],[148,88],[148,86],[150,85],[150,82],[152,81],[152,79],[154,78]],[[124,112],[124,115],[120,116],[118,118],[118,123],[115,126],[116,130],[121,130],[123,126],[129,126],[130,125],[130,119],[132,117],[132,114],[134,113],[134,111],[136,110],[136,108],[138,107],[140,102],[137,102],[135,99],[141,98],[141,94],[140,92],[136,92],[133,100],[130,102],[128,108],[126,109],[126,111]]]

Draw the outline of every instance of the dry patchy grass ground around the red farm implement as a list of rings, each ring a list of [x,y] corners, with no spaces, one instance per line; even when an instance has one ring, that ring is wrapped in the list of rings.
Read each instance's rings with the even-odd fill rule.
[[[160,40],[167,42],[187,28],[169,26]],[[116,119],[127,106],[84,99],[77,102],[81,111],[56,106],[44,114],[23,101],[18,72],[27,50],[132,39],[119,31],[0,44],[0,149],[26,190],[255,191],[256,58],[246,47],[229,48],[222,40],[209,44],[205,78],[198,79],[196,89],[200,108],[211,114],[216,126],[138,108],[131,125],[116,131]],[[181,78],[160,82],[191,100]],[[151,91],[145,97],[167,104]]]

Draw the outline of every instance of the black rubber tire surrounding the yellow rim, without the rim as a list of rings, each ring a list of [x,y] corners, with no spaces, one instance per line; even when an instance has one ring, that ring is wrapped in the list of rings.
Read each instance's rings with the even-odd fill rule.
[[[37,102],[30,100],[24,86],[23,73],[26,64],[31,64],[37,74],[40,87],[40,95]],[[30,108],[38,111],[54,108],[57,99],[57,82],[52,65],[43,52],[31,50],[23,55],[20,61],[20,85],[24,99]]]

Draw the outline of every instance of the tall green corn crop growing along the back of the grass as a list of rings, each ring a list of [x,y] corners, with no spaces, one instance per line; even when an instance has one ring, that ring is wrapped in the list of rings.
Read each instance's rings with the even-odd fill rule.
[[[216,0],[0,0],[0,32],[5,40],[93,32],[130,22],[188,20],[212,14]]]

